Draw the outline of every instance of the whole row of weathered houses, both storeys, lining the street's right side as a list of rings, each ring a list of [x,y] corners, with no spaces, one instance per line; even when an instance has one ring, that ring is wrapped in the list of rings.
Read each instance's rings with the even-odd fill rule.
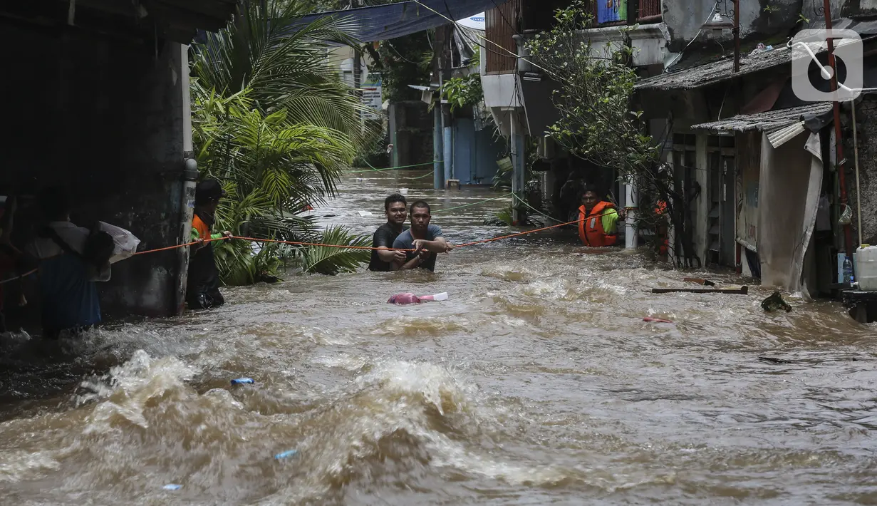
[[[553,85],[527,65],[524,40],[547,29],[549,13],[567,4],[517,0],[488,11],[487,38],[505,53],[519,56],[506,57],[503,51],[484,54],[485,99],[504,134],[542,137],[546,125],[556,119],[546,98]],[[810,103],[795,96],[793,50],[786,46],[802,28],[824,26],[823,2],[740,2],[738,71],[734,69],[734,32],[705,26],[717,12],[725,19],[734,18],[730,0],[629,0],[620,4],[618,18],[608,19],[601,18],[599,5],[595,4],[595,28],[587,35],[594,46],[618,44],[623,38],[614,27],[633,25],[627,43],[636,50],[633,65],[642,76],[634,107],[645,111],[652,136],[664,141],[664,160],[672,167],[677,189],[693,196],[689,209],[683,211],[695,250],[694,258],[686,263],[737,267],[769,284],[810,294],[836,289],[837,255],[845,250],[845,233],[838,225],[843,207],[837,156],[831,147],[835,137],[831,103]],[[871,83],[869,38],[875,26],[870,17],[877,15],[875,6],[877,2],[870,0],[831,2],[834,27],[851,29],[866,39],[866,81]],[[510,25],[509,19],[519,24]],[[827,63],[824,52],[817,58]],[[811,80],[816,77],[813,72],[809,70]],[[820,86],[828,91],[827,82]],[[855,123],[862,133],[859,200],[865,239],[877,239],[877,218],[873,217],[877,209],[871,198],[877,183],[869,174],[877,167],[873,167],[873,150],[865,140],[873,134],[867,126],[873,105],[866,95],[857,106]],[[850,107],[844,110],[845,193],[850,205],[857,207],[852,187],[856,179],[853,124]],[[789,137],[778,137],[777,132]],[[563,157],[549,140],[540,141],[539,154],[549,160]],[[563,170],[553,169],[543,180],[555,194],[560,185],[551,180],[559,176],[565,176]],[[795,195],[787,195],[793,189]],[[635,206],[631,193],[625,198],[621,188],[614,190],[620,203]],[[772,202],[766,203],[765,198]],[[680,245],[674,246],[681,251]],[[793,272],[782,264],[797,267]]]

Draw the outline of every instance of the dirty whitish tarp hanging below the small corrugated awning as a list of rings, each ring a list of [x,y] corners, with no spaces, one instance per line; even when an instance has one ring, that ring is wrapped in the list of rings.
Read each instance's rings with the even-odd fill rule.
[[[816,224],[823,162],[819,137],[802,132],[774,147],[761,139],[759,258],[761,284],[809,297],[804,258]],[[776,141],[776,139],[774,139]],[[779,143],[777,143],[779,144]]]

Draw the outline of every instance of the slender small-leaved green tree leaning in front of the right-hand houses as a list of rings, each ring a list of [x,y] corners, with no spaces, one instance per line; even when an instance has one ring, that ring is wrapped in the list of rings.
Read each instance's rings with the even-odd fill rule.
[[[695,259],[686,227],[691,196],[677,190],[673,175],[660,163],[661,144],[644,133],[642,112],[631,110],[637,75],[631,66],[629,29],[619,28],[620,44],[594,46],[587,35],[594,27],[591,12],[589,2],[574,0],[555,12],[551,30],[528,42],[532,61],[560,84],[553,94],[560,120],[549,132],[567,152],[616,169],[641,196],[666,202],[682,246],[677,259],[681,256],[690,265]],[[645,204],[643,199],[640,203]],[[642,207],[642,224],[663,219],[649,216],[650,209]]]

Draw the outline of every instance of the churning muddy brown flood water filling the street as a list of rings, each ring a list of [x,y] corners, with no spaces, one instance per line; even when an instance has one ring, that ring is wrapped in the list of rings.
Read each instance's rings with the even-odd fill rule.
[[[315,212],[371,233],[391,190],[434,211],[496,196],[423,174],[347,177]],[[481,224],[507,204],[433,223],[458,244],[510,233]],[[0,504],[877,503],[873,326],[788,295],[766,314],[759,288],[652,295],[745,280],[576,241],[464,247],[434,274],[290,272],[61,349],[6,340]],[[405,291],[450,299],[386,303]]]

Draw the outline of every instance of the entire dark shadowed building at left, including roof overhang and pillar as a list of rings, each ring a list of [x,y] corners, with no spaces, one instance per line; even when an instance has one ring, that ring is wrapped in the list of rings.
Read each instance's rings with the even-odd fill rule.
[[[7,118],[15,118],[0,141],[0,193],[19,196],[18,244],[32,237],[31,197],[45,185],[68,189],[76,224],[116,224],[139,237],[143,249],[188,237],[197,177],[186,170],[188,44],[196,29],[225,26],[234,9],[234,0],[0,7],[0,42],[10,49],[0,88],[11,98]],[[101,283],[103,306],[177,314],[187,267],[186,248],[120,262],[111,282]]]

